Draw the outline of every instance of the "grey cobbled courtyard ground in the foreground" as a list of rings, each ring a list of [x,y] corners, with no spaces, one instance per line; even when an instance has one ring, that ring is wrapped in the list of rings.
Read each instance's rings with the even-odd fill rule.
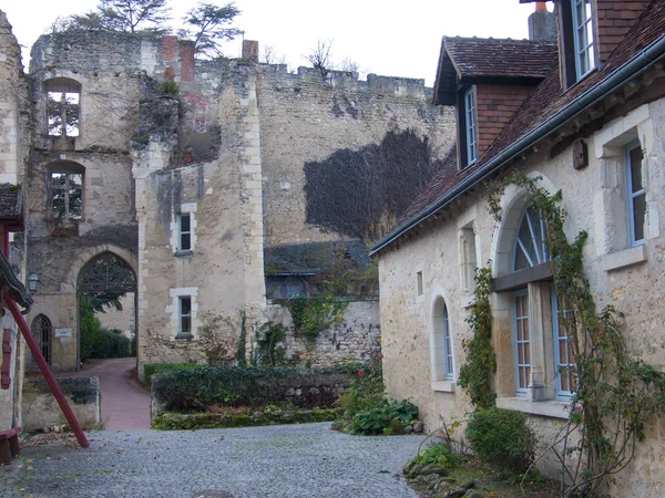
[[[0,496],[417,498],[401,468],[422,436],[349,436],[329,426],[101,430],[88,433],[88,449],[35,436],[0,468]]]

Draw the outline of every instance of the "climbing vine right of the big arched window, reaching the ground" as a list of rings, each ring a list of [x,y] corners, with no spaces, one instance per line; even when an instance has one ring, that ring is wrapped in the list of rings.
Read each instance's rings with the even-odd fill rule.
[[[575,364],[570,418],[549,449],[562,466],[562,496],[595,496],[628,465],[635,445],[645,437],[647,421],[663,413],[665,374],[631,355],[621,312],[612,305],[596,310],[583,264],[587,234],[567,240],[561,191],[550,195],[539,186],[539,178],[508,175],[491,186],[488,196],[497,221],[501,220],[500,196],[510,184],[528,191],[528,206],[545,221],[556,297],[564,310],[560,320]],[[489,308],[480,312],[475,320],[491,319]],[[564,481],[570,483],[567,489]]]

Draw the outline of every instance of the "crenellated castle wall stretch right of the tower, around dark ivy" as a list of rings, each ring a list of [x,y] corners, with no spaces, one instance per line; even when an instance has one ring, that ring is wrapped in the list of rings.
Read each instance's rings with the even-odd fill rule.
[[[306,222],[304,167],[341,149],[379,145],[389,131],[416,128],[442,158],[454,141],[454,115],[434,107],[422,80],[320,73],[262,64],[257,92],[262,122],[265,242],[337,240]]]

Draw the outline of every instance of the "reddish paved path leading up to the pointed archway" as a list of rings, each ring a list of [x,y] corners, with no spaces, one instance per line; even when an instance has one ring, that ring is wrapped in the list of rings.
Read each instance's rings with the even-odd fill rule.
[[[57,376],[100,377],[104,427],[145,429],[150,428],[150,393],[130,377],[135,366],[135,357],[98,360],[79,372],[61,373]]]

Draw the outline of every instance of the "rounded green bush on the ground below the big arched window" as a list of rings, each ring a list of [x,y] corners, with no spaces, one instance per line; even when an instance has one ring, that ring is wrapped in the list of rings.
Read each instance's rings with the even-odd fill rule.
[[[533,461],[535,436],[522,412],[479,409],[471,415],[466,434],[471,449],[484,461],[522,473]]]

